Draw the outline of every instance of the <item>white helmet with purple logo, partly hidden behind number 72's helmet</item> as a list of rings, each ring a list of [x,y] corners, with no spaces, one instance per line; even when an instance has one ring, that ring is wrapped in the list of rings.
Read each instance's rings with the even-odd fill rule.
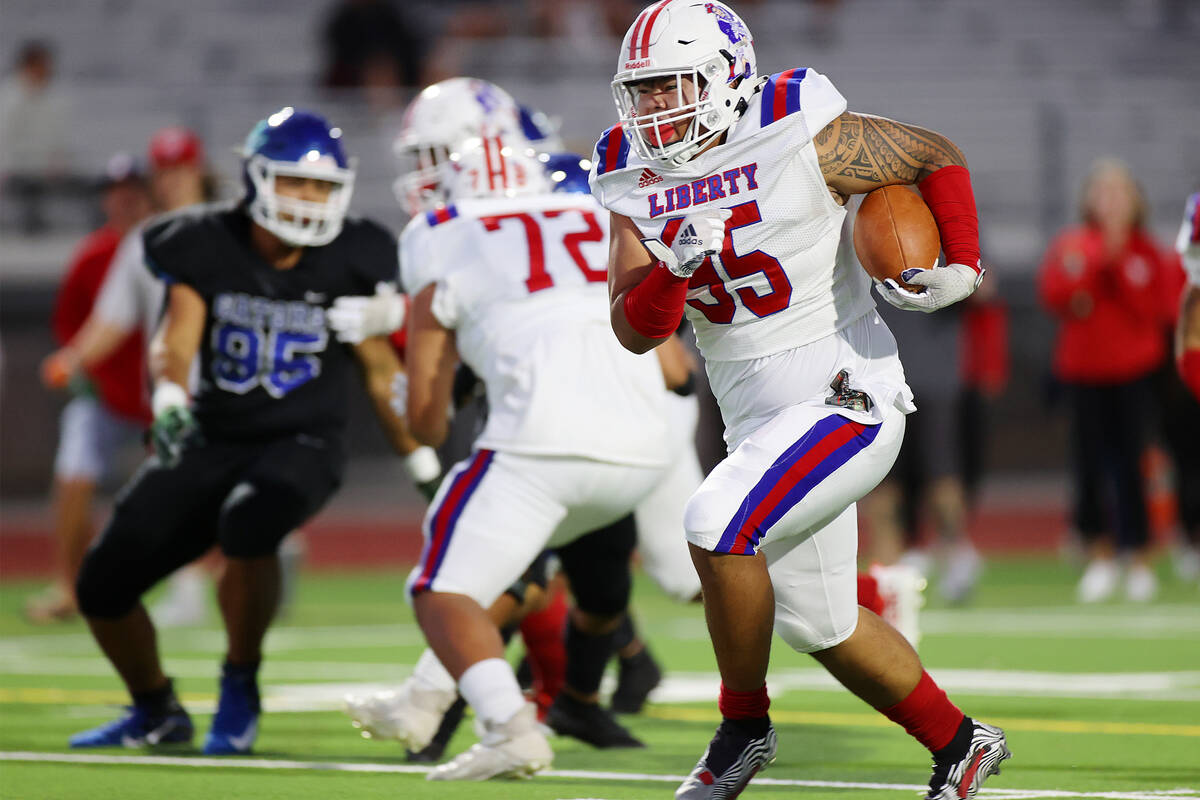
[[[392,144],[400,178],[396,199],[409,215],[446,203],[442,167],[464,142],[487,136],[520,137],[520,109],[512,97],[486,80],[450,78],[426,86],[404,110]]]

